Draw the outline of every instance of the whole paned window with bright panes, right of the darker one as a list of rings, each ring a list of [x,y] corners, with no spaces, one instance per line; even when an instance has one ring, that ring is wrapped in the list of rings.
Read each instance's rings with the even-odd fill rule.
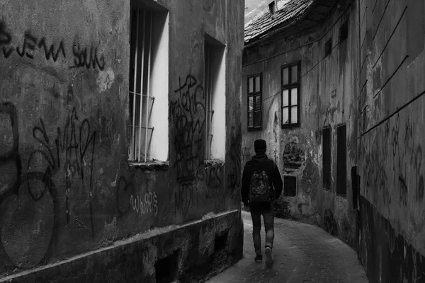
[[[282,127],[300,126],[300,62],[282,67]]]

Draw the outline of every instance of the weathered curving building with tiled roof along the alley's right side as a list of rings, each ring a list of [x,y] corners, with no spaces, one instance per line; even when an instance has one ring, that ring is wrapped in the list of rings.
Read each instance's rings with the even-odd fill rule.
[[[278,213],[356,248],[371,282],[425,276],[421,2],[271,1],[245,25],[242,161],[266,139]]]

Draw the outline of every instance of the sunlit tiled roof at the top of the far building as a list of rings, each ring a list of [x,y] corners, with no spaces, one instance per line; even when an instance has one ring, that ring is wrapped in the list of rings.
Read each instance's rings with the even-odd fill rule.
[[[245,43],[261,37],[273,28],[285,25],[293,21],[293,18],[301,16],[314,0],[290,0],[272,16],[266,6],[266,11],[253,18],[245,25]]]

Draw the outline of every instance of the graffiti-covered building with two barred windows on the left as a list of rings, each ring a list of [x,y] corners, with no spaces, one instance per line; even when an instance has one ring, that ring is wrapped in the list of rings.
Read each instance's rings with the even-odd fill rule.
[[[243,1],[1,1],[0,281],[242,257]]]

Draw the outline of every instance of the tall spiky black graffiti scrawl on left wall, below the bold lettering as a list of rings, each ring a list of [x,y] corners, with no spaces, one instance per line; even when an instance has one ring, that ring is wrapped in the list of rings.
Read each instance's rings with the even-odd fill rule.
[[[79,119],[74,108],[67,117],[65,125],[62,128],[57,127],[57,136],[54,140],[50,139],[47,134],[42,119],[40,119],[40,125],[33,128],[33,137],[40,142],[42,149],[37,149],[30,154],[27,171],[44,173],[44,178],[48,183],[52,183],[52,178],[58,173],[64,174],[67,223],[73,217],[81,229],[90,229],[93,233],[92,219],[89,220],[90,224],[86,224],[86,221],[79,218],[75,211],[79,210],[77,205],[89,207],[91,211],[96,131],[91,131],[89,120]],[[46,187],[40,191],[29,183],[28,189],[34,200],[39,200],[46,192]],[[76,190],[78,193],[75,192]],[[87,203],[71,204],[70,195],[74,195],[80,200],[83,197]],[[91,212],[89,214],[92,217]]]

